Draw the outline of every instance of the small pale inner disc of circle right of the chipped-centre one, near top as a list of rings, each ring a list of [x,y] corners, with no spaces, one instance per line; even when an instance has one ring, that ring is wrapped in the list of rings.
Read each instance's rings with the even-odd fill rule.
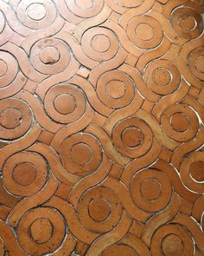
[[[91,46],[97,52],[105,52],[110,48],[111,42],[107,36],[99,34],[92,37]]]

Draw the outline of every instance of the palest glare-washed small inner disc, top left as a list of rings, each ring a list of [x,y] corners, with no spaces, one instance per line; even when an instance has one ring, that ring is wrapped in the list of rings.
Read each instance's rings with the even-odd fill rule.
[[[27,15],[35,21],[40,21],[46,14],[46,8],[42,3],[31,3],[27,8]]]

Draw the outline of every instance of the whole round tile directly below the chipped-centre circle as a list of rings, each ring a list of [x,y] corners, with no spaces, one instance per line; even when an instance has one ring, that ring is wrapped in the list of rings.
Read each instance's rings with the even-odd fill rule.
[[[73,84],[59,84],[48,90],[45,96],[48,115],[61,123],[77,121],[86,110],[82,91]]]

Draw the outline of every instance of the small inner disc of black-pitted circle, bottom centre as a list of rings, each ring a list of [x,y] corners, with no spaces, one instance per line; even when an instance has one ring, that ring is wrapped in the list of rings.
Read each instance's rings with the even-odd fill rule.
[[[111,213],[111,208],[108,201],[100,198],[92,200],[88,210],[92,220],[99,222],[106,220]]]

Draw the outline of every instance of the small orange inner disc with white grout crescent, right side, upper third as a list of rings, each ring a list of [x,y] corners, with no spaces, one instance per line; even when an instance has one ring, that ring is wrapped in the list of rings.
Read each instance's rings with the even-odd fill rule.
[[[153,80],[158,85],[161,85],[161,86],[168,85],[169,82],[171,81],[171,75],[169,73],[169,70],[163,69],[163,68],[154,70]]]

